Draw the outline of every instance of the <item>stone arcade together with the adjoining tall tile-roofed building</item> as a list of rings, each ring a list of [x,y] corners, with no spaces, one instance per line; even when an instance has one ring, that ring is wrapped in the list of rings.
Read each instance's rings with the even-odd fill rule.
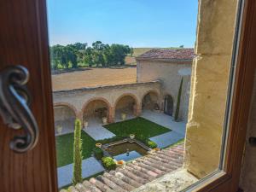
[[[79,89],[55,90],[55,126],[73,131],[76,118],[82,122],[100,122],[105,118],[112,123],[120,119],[121,113],[131,118],[139,116],[143,110],[173,116],[182,79],[178,118],[186,121],[194,57],[194,49],[151,49],[137,57],[135,83],[86,87],[85,82]]]

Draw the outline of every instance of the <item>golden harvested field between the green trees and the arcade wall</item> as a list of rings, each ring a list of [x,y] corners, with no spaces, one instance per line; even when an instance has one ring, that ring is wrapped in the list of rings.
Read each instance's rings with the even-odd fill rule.
[[[52,75],[53,90],[73,90],[110,84],[136,83],[137,68],[83,68]]]

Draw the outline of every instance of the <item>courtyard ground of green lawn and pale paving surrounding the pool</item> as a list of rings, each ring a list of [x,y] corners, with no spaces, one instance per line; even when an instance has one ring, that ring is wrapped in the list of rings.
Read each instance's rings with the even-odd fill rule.
[[[92,131],[95,129],[94,131]],[[72,131],[72,129],[69,129]],[[90,126],[83,129],[83,167],[90,164],[90,169],[83,169],[83,177],[90,177],[105,170],[101,163],[93,156],[96,143],[112,143],[134,134],[138,141],[147,143],[152,141],[158,148],[167,148],[183,140],[185,132],[184,122],[175,122],[165,113],[144,110],[141,117],[119,119],[118,122],[102,125],[101,119],[90,122]],[[71,183],[73,167],[73,132],[56,136],[57,166],[59,172],[59,187]],[[132,152],[134,153],[134,152]],[[131,154],[132,154],[131,153]],[[139,155],[141,156],[141,155]],[[137,157],[139,157],[137,156]],[[65,174],[64,174],[65,173]]]

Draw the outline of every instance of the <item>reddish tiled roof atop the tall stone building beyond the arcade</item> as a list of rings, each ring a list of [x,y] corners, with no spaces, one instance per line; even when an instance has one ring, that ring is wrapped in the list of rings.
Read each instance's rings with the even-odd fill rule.
[[[194,57],[194,49],[150,49],[137,56],[137,60],[188,61]]]

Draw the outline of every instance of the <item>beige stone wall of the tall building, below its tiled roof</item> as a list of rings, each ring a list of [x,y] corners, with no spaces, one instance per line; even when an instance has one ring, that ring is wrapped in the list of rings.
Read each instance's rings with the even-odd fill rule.
[[[183,90],[180,103],[180,119],[187,120],[189,108],[190,73],[192,61],[143,61],[137,60],[137,82],[147,82],[159,79],[162,82],[161,103],[166,95],[174,102],[174,112],[177,107],[178,89],[183,77]]]

